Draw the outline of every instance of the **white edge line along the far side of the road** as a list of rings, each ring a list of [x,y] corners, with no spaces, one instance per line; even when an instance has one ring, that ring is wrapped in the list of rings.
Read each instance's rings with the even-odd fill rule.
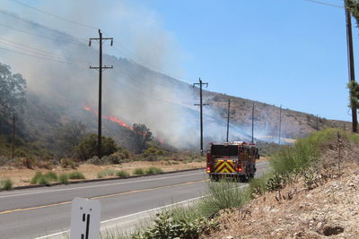
[[[197,172],[197,173],[188,174],[188,175],[199,175],[199,174],[205,174],[205,173],[204,172]],[[143,180],[137,180],[137,181],[129,181],[129,182],[121,182],[121,183],[97,184],[97,185],[92,185],[92,186],[83,186],[83,187],[75,187],[75,188],[63,188],[63,189],[46,190],[46,191],[40,191],[40,192],[39,191],[37,191],[37,192],[26,192],[26,193],[12,194],[12,195],[3,195],[3,196],[0,196],[0,199],[13,198],[13,197],[19,197],[19,196],[25,196],[25,195],[31,195],[31,194],[39,194],[39,193],[73,191],[73,190],[79,190],[79,189],[96,188],[96,187],[111,186],[111,185],[135,184],[135,183],[150,182],[150,181],[156,181],[156,180],[162,180],[162,179],[168,179],[168,178],[183,177],[183,176],[188,176],[188,175],[174,175],[174,176],[149,178],[149,179],[143,179]]]

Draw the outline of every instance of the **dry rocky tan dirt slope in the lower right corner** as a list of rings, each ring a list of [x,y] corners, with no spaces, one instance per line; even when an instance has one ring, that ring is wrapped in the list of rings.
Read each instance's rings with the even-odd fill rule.
[[[299,180],[266,192],[223,212],[220,222],[221,229],[206,238],[359,238],[359,166],[346,165],[343,175],[312,190]]]

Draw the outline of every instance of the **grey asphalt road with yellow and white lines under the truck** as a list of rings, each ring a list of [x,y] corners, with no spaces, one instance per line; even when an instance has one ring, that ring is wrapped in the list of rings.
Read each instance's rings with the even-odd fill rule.
[[[267,162],[257,165],[260,176]],[[195,170],[0,192],[0,238],[58,238],[69,229],[75,197],[101,201],[101,230],[128,230],[158,209],[196,200],[206,180],[204,170]]]

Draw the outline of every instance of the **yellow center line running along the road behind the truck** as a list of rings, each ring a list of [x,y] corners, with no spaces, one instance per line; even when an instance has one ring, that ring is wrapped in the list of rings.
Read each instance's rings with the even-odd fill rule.
[[[130,193],[136,193],[136,192],[148,192],[148,191],[153,191],[153,190],[158,190],[158,189],[163,189],[163,188],[178,187],[178,186],[183,186],[183,185],[188,185],[188,184],[197,184],[197,183],[201,183],[201,182],[205,182],[205,181],[208,181],[208,179],[191,181],[191,182],[187,182],[187,183],[183,183],[183,184],[173,184],[173,185],[160,186],[160,187],[155,187],[155,188],[133,190],[133,191],[128,191],[128,192],[118,192],[118,193],[113,193],[113,194],[108,194],[108,195],[103,195],[103,196],[92,197],[90,199],[105,199],[105,198],[111,198],[111,197],[116,197],[116,196],[130,194]],[[0,215],[13,213],[13,212],[19,212],[19,211],[27,211],[27,210],[33,210],[33,209],[44,209],[44,208],[55,207],[55,206],[59,206],[59,205],[66,205],[66,204],[70,204],[71,202],[72,201],[63,201],[63,202],[59,202],[59,203],[53,203],[53,204],[31,207],[31,208],[26,208],[26,209],[4,210],[4,211],[0,211]]]

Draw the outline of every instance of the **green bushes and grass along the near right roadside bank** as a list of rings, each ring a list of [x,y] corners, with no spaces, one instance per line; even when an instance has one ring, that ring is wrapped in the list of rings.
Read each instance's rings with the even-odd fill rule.
[[[286,185],[302,181],[307,190],[312,190],[325,184],[329,177],[339,176],[340,165],[347,158],[344,159],[343,154],[338,158],[338,150],[345,150],[344,145],[357,142],[358,135],[337,129],[312,133],[293,146],[285,146],[273,153],[270,158],[272,170],[251,180],[248,187],[241,188],[241,184],[231,180],[208,182],[202,198],[188,206],[165,209],[157,214],[153,226],[131,236],[136,239],[198,238],[214,234],[218,228],[225,227],[220,225],[220,215],[238,211],[266,192],[277,192],[277,201],[291,200],[297,192],[281,192]],[[331,157],[327,157],[328,153]]]

